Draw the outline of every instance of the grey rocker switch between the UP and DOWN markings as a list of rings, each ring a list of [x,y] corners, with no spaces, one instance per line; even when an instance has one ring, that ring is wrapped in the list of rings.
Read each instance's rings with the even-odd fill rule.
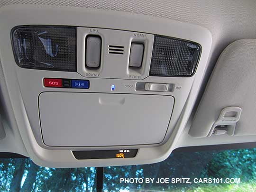
[[[85,40],[85,65],[87,68],[99,68],[101,65],[101,37],[88,36]]]

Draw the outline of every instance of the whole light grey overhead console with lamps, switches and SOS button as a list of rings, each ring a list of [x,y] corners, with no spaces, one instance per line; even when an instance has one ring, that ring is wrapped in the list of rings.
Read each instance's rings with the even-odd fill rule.
[[[0,11],[3,23],[10,9]],[[129,165],[171,153],[206,67],[207,29],[77,8],[31,6],[39,18],[24,18],[27,8],[15,9],[18,19],[0,29],[0,60],[36,163]]]

